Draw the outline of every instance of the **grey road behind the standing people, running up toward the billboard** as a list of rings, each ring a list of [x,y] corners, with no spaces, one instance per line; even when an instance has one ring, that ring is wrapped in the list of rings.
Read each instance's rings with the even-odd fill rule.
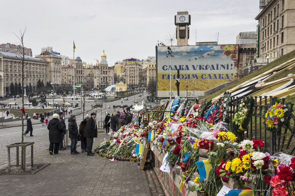
[[[139,94],[138,94],[139,95]],[[103,108],[96,108],[97,109],[97,121],[104,121],[104,118],[106,116],[106,113],[113,113],[113,105],[124,105],[124,104],[136,104],[133,103],[134,99],[138,100],[139,102],[142,102],[142,99],[146,100],[148,93],[144,93],[144,96],[138,97],[138,95],[128,97],[128,100],[115,100],[110,102],[104,102]],[[9,101],[9,100],[6,100]],[[10,100],[11,101],[11,100]],[[86,107],[85,110],[89,111],[89,115],[91,112],[95,112],[95,109],[91,110],[91,104],[94,104],[93,100],[87,100],[86,101]],[[155,103],[149,103],[152,106],[155,105]],[[108,109],[108,106],[111,106],[111,109]],[[122,111],[122,108],[116,108],[117,111]],[[74,110],[74,114],[81,113],[81,110]],[[85,113],[86,115],[86,113]],[[66,124],[67,119],[69,118],[69,115],[66,117]],[[77,115],[77,124],[79,125],[80,122],[83,120],[83,115]],[[32,123],[39,123],[39,120],[32,120]],[[21,121],[14,122],[15,125],[21,124]],[[10,125],[14,125],[11,124]],[[26,124],[26,122],[25,122]],[[26,129],[26,126],[24,127]],[[1,128],[0,129],[0,166],[3,164],[7,164],[7,148],[6,145],[21,142],[21,126],[17,127],[10,127],[10,128]],[[102,131],[102,130],[101,130]],[[25,138],[25,142],[34,142],[34,151],[38,151],[43,148],[49,147],[49,139],[48,139],[48,129],[46,126],[43,126],[41,124],[33,124],[33,137],[29,137],[29,134],[27,134],[27,137]],[[11,149],[11,160],[16,159],[16,150]],[[30,149],[27,149],[27,154],[30,153]]]

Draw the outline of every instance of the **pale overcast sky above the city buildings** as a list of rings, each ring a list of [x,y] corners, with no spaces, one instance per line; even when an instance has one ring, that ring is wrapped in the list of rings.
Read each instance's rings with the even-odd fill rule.
[[[157,41],[175,34],[177,11],[191,15],[189,45],[195,41],[235,44],[242,31],[256,31],[259,0],[5,0],[0,43],[17,43],[27,26],[25,47],[42,47],[95,63],[105,49],[109,66],[125,58],[155,56]],[[195,32],[197,31],[197,36]],[[196,38],[197,37],[197,38]]]

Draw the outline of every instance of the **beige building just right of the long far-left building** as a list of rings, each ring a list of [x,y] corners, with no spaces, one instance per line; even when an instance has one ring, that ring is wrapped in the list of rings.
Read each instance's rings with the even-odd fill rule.
[[[45,73],[48,75],[48,80],[55,84],[61,84],[61,57],[56,54],[51,54],[48,51],[45,51],[35,57],[49,62],[48,70]]]

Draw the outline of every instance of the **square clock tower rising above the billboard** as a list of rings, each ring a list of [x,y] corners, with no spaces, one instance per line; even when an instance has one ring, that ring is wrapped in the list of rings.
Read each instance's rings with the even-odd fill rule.
[[[177,12],[177,15],[174,16],[174,21],[177,46],[188,46],[190,15],[188,15],[188,12]]]

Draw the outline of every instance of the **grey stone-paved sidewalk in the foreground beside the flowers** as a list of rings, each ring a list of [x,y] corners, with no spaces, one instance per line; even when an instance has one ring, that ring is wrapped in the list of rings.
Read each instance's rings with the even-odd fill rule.
[[[104,130],[99,130],[93,148],[107,137]],[[81,151],[80,147],[77,150]],[[29,156],[27,160],[27,164],[30,164]],[[50,165],[33,175],[0,175],[0,195],[152,196],[163,193],[161,190],[151,193],[150,190],[159,189],[152,184],[159,182],[148,183],[146,173],[140,170],[137,163],[110,161],[98,154],[87,156],[80,152],[73,155],[69,149],[50,155],[48,148],[34,152],[34,163]]]

